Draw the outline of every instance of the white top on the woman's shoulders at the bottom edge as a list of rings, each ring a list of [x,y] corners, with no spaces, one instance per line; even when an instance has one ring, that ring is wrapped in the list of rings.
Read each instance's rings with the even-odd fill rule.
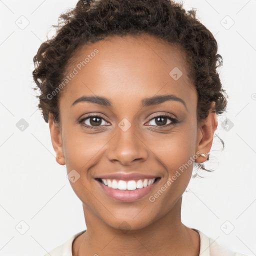
[[[192,228],[197,231],[200,235],[200,252],[199,256],[246,256],[241,253],[232,252],[216,242],[214,242],[211,238],[208,238],[204,233],[199,231],[198,229]],[[80,231],[74,235],[72,235],[68,240],[66,240],[63,244],[54,248],[44,256],[72,256],[72,243],[73,240],[85,232],[86,230]]]

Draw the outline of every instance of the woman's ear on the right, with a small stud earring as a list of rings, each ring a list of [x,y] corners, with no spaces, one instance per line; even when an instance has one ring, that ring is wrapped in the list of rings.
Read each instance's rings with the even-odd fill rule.
[[[218,123],[215,111],[215,102],[213,101],[211,103],[208,116],[201,120],[197,129],[196,151],[204,153],[205,156],[198,156],[194,160],[195,162],[204,162],[207,159],[207,152],[210,151],[217,125]]]

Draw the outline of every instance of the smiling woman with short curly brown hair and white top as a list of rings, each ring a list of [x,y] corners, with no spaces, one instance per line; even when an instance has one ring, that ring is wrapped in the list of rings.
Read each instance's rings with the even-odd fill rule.
[[[51,256],[238,255],[180,218],[226,108],[220,58],[194,11],[170,0],[80,0],[61,14],[33,78],[86,230]]]

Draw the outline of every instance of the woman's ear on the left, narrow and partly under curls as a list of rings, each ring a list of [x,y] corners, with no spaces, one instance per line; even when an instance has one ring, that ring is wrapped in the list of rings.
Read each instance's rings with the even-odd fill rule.
[[[54,122],[53,116],[51,113],[48,114],[48,122],[50,128],[50,138],[53,149],[56,153],[56,161],[57,163],[64,165],[65,158],[63,154],[63,146],[62,146],[62,138],[61,138],[61,130],[58,123]]]

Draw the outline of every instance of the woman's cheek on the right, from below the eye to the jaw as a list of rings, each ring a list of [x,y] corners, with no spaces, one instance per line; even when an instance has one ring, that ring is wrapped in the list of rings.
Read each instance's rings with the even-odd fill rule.
[[[151,145],[157,160],[166,169],[159,190],[152,194],[150,201],[155,201],[167,212],[183,194],[193,169],[195,152],[195,129],[177,129],[171,134],[157,138],[157,143]],[[162,196],[163,194],[163,196]]]

